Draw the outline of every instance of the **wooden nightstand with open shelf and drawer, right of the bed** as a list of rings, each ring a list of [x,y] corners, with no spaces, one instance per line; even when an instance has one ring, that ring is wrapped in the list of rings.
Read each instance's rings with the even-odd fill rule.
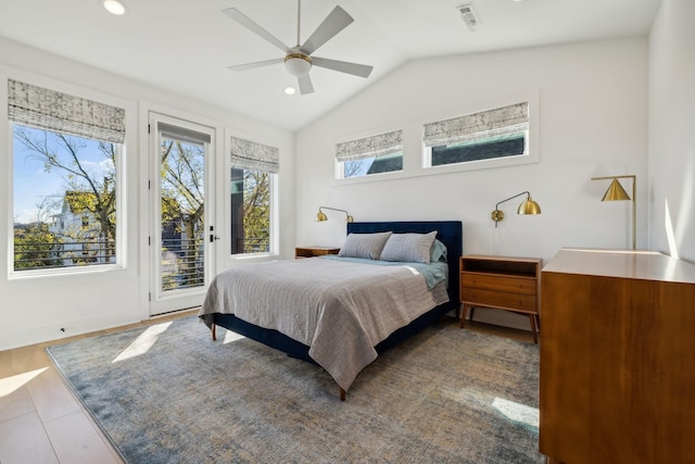
[[[540,326],[540,288],[543,260],[539,258],[505,258],[469,254],[460,256],[460,326],[464,327],[470,308],[492,308],[528,314],[538,343]]]

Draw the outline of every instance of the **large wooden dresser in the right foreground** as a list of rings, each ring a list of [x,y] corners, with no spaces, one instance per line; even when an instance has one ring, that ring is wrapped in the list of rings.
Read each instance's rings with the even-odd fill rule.
[[[561,250],[541,279],[549,463],[695,463],[695,265]]]

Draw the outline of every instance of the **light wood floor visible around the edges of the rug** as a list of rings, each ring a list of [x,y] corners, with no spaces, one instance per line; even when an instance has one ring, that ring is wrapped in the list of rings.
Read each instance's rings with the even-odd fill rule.
[[[195,314],[185,311],[140,324],[61,340],[71,341]],[[458,324],[452,318],[452,324]],[[533,341],[531,333],[481,323],[466,329]],[[45,348],[0,351],[0,463],[122,463],[109,440],[65,385]]]

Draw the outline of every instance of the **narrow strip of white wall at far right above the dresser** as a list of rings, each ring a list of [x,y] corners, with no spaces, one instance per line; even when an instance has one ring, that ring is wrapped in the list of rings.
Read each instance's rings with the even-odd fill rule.
[[[695,2],[661,0],[649,35],[649,231],[695,262]]]

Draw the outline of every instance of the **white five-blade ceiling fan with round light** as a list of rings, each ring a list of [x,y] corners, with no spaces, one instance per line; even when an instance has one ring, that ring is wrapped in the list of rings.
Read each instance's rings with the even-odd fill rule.
[[[296,46],[291,48],[287,47],[273,34],[258,26],[249,16],[244,15],[236,8],[223,10],[223,13],[225,13],[227,16],[231,17],[237,23],[266,39],[268,42],[273,43],[285,52],[285,58],[257,61],[247,64],[238,64],[235,66],[228,66],[228,68],[232,71],[245,71],[261,66],[268,66],[271,64],[285,63],[285,67],[287,68],[288,73],[298,78],[301,95],[312,93],[314,91],[312,79],[308,77],[308,72],[312,70],[312,66],[325,67],[328,70],[338,71],[340,73],[348,73],[359,77],[368,77],[371,73],[371,70],[374,68],[372,66],[349,63],[346,61],[329,60],[327,58],[312,57],[312,53],[318,50],[319,47],[321,47],[328,40],[338,35],[338,33],[348,27],[350,23],[354,21],[352,16],[348,14],[348,12],[345,12],[345,10],[343,10],[342,8],[336,7],[333,11],[331,11],[330,14],[326,16],[326,20],[324,20],[324,22],[316,28],[316,30],[314,30],[314,34],[312,34],[311,37],[306,39],[304,45],[300,46],[300,20],[302,14],[302,0],[298,0],[296,3]]]

